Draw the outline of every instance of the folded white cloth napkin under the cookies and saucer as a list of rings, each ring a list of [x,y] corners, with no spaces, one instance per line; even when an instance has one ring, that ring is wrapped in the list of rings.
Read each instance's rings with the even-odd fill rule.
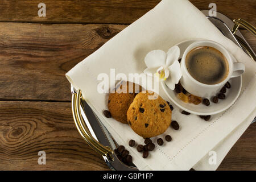
[[[150,152],[147,159],[129,147],[128,142],[134,139],[143,143],[143,139],[134,133],[128,125],[106,118],[102,111],[106,110],[106,94],[97,92],[100,73],[142,73],[146,68],[144,57],[154,49],[168,49],[187,39],[208,39],[222,44],[238,62],[245,64],[242,76],[242,90],[237,101],[223,113],[213,115],[209,122],[204,122],[197,115],[183,115],[177,106],[172,118],[180,124],[178,131],[167,129],[165,134],[172,136],[172,141],[158,146]],[[187,0],[163,0],[142,18],[130,24],[114,38],[110,39],[92,55],[86,57],[67,73],[69,82],[82,95],[89,106],[101,119],[101,122],[117,140],[124,145],[133,156],[133,162],[140,170],[189,170],[216,169],[221,160],[249,126],[255,116],[255,68],[256,64],[245,52],[209,22],[205,15]],[[113,86],[113,85],[112,85]],[[168,100],[163,89],[159,94]],[[159,137],[164,137],[164,135]],[[152,138],[156,142],[156,137]],[[208,164],[209,151],[217,153],[217,163]]]

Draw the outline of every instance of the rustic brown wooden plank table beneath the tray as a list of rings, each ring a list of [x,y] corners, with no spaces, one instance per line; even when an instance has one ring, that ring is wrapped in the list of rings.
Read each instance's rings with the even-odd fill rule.
[[[46,4],[46,17],[38,4]],[[57,0],[0,3],[0,170],[109,170],[80,137],[71,113],[65,73],[152,9],[152,0]],[[229,18],[256,24],[256,1],[209,3]],[[242,34],[256,49],[256,40]],[[237,141],[218,169],[256,169],[256,123]],[[38,164],[38,152],[47,164]]]

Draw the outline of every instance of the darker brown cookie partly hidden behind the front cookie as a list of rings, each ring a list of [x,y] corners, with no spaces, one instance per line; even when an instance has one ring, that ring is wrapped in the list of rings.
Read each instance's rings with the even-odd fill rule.
[[[141,90],[142,87],[133,82],[121,82],[115,88],[115,93],[109,94],[108,109],[112,118],[127,124],[127,110],[136,94],[141,92]]]

